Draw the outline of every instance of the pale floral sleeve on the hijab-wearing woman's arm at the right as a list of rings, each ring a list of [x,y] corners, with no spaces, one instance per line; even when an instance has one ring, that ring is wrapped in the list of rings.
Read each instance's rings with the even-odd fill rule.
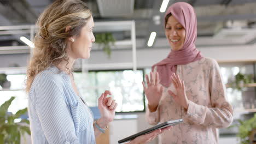
[[[228,127],[233,120],[232,106],[226,100],[226,87],[219,73],[219,65],[213,61],[210,70],[209,91],[212,107],[202,106],[189,101],[187,118],[195,124],[214,128]]]

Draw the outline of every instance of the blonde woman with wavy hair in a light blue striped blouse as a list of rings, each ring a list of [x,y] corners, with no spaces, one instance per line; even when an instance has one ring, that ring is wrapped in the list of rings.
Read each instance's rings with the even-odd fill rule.
[[[26,83],[32,143],[95,143],[113,121],[117,103],[107,97],[109,91],[102,93],[101,118],[94,122],[72,75],[75,59],[89,58],[95,41],[91,11],[79,0],[57,0],[40,15],[37,26]],[[151,141],[168,129],[130,143]]]

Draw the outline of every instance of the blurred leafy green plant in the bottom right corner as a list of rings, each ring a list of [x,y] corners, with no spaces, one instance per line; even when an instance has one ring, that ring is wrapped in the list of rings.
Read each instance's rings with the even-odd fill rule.
[[[240,137],[241,144],[250,143],[249,136],[252,134],[252,131],[256,129],[256,113],[254,117],[248,119],[247,121],[238,120],[239,124],[231,125],[231,127],[238,127],[239,131],[237,137]]]

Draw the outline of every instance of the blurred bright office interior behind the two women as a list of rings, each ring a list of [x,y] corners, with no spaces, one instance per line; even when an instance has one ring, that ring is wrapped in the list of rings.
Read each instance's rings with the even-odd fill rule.
[[[8,112],[27,107],[26,66],[33,51],[35,23],[54,0],[0,0],[0,105],[15,97]],[[255,0],[84,0],[92,10],[96,43],[89,60],[74,65],[75,82],[99,118],[97,98],[109,89],[118,105],[108,133],[97,143],[117,143],[151,127],[145,120],[147,100],[141,82],[151,66],[171,48],[165,37],[166,7],[188,2],[197,16],[196,47],[216,59],[234,107],[234,122],[247,122],[256,112],[256,1]],[[26,115],[22,118],[27,118]],[[20,122],[21,119],[16,119]],[[254,121],[256,122],[256,121]],[[237,134],[253,127],[219,129],[219,143],[240,143]],[[242,131],[242,130],[245,131]],[[254,128],[255,129],[255,128]],[[1,130],[0,130],[1,131]],[[255,130],[254,130],[255,131]],[[255,132],[254,132],[255,133]],[[31,143],[30,136],[21,143]],[[255,138],[254,138],[255,140]],[[102,142],[104,141],[104,142]],[[157,143],[157,140],[152,143]]]

